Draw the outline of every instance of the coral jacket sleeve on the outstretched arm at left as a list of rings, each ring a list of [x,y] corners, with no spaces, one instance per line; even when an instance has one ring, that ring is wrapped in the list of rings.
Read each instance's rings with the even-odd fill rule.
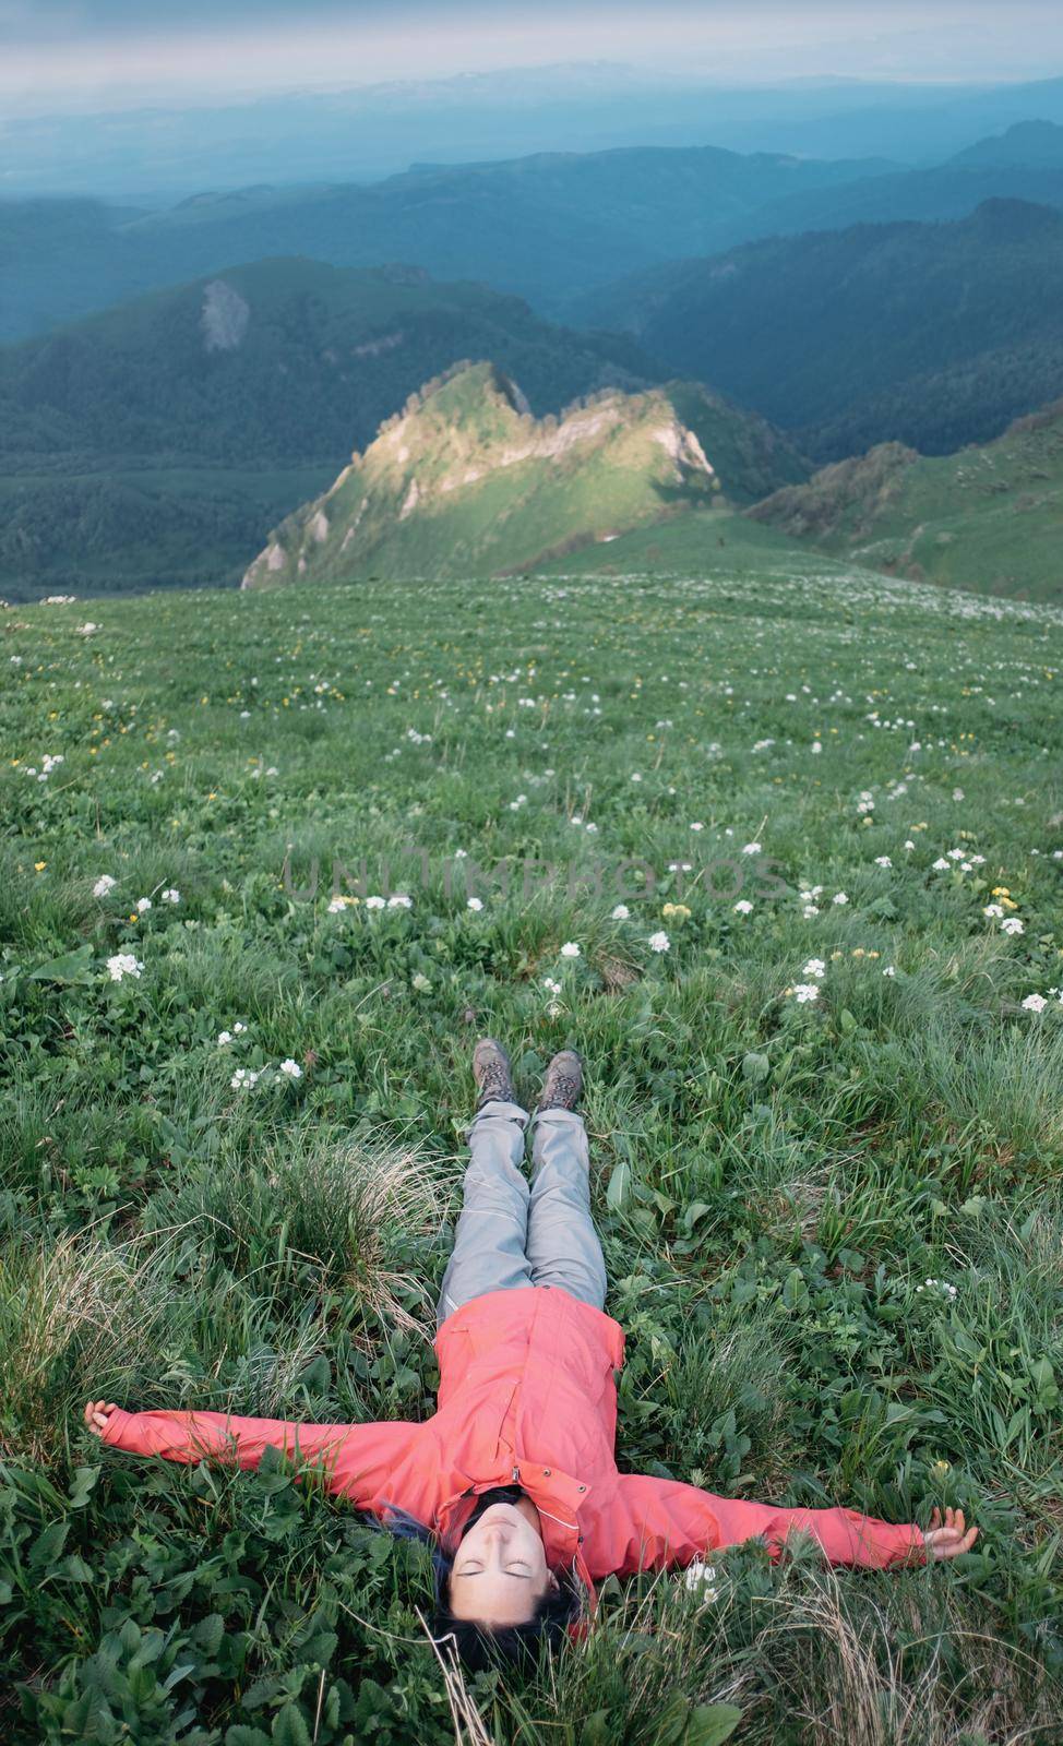
[[[115,1407],[103,1442],[131,1454],[164,1454],[194,1463],[220,1456],[258,1467],[265,1449],[319,1463],[328,1489],[356,1509],[374,1509],[393,1489],[393,1475],[412,1453],[421,1425],[297,1425],[291,1419],[237,1418],[232,1413],[126,1413]]]

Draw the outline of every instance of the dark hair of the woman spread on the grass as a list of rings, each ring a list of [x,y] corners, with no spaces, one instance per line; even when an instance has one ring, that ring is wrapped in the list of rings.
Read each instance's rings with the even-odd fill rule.
[[[497,1667],[499,1664],[531,1669],[536,1666],[543,1645],[550,1643],[560,1648],[569,1626],[583,1612],[583,1585],[573,1568],[553,1571],[557,1589],[546,1589],[532,1617],[522,1626],[504,1626],[501,1631],[490,1631],[475,1619],[456,1619],[450,1612],[454,1554],[443,1550],[431,1528],[426,1528],[424,1523],[419,1523],[405,1510],[391,1505],[384,1505],[384,1509],[387,1510],[386,1516],[374,1517],[377,1528],[387,1529],[398,1540],[419,1540],[429,1549],[435,1582],[431,1634],[440,1645],[450,1641],[470,1673],[477,1673],[480,1667]],[[473,1519],[480,1514],[482,1510],[475,1510],[463,1531],[468,1531]]]

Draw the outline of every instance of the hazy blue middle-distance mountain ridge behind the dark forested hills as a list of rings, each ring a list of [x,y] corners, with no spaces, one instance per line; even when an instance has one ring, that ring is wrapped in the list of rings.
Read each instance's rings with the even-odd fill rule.
[[[957,218],[986,199],[1063,206],[1063,162],[1047,143],[1056,136],[1063,127],[1049,122],[1019,127],[981,157],[918,169],[881,157],[630,147],[415,164],[377,183],[253,183],[155,211],[87,197],[0,201],[0,340],[276,255],[347,267],[407,260],[602,327],[597,288],[681,257],[808,229]]]

